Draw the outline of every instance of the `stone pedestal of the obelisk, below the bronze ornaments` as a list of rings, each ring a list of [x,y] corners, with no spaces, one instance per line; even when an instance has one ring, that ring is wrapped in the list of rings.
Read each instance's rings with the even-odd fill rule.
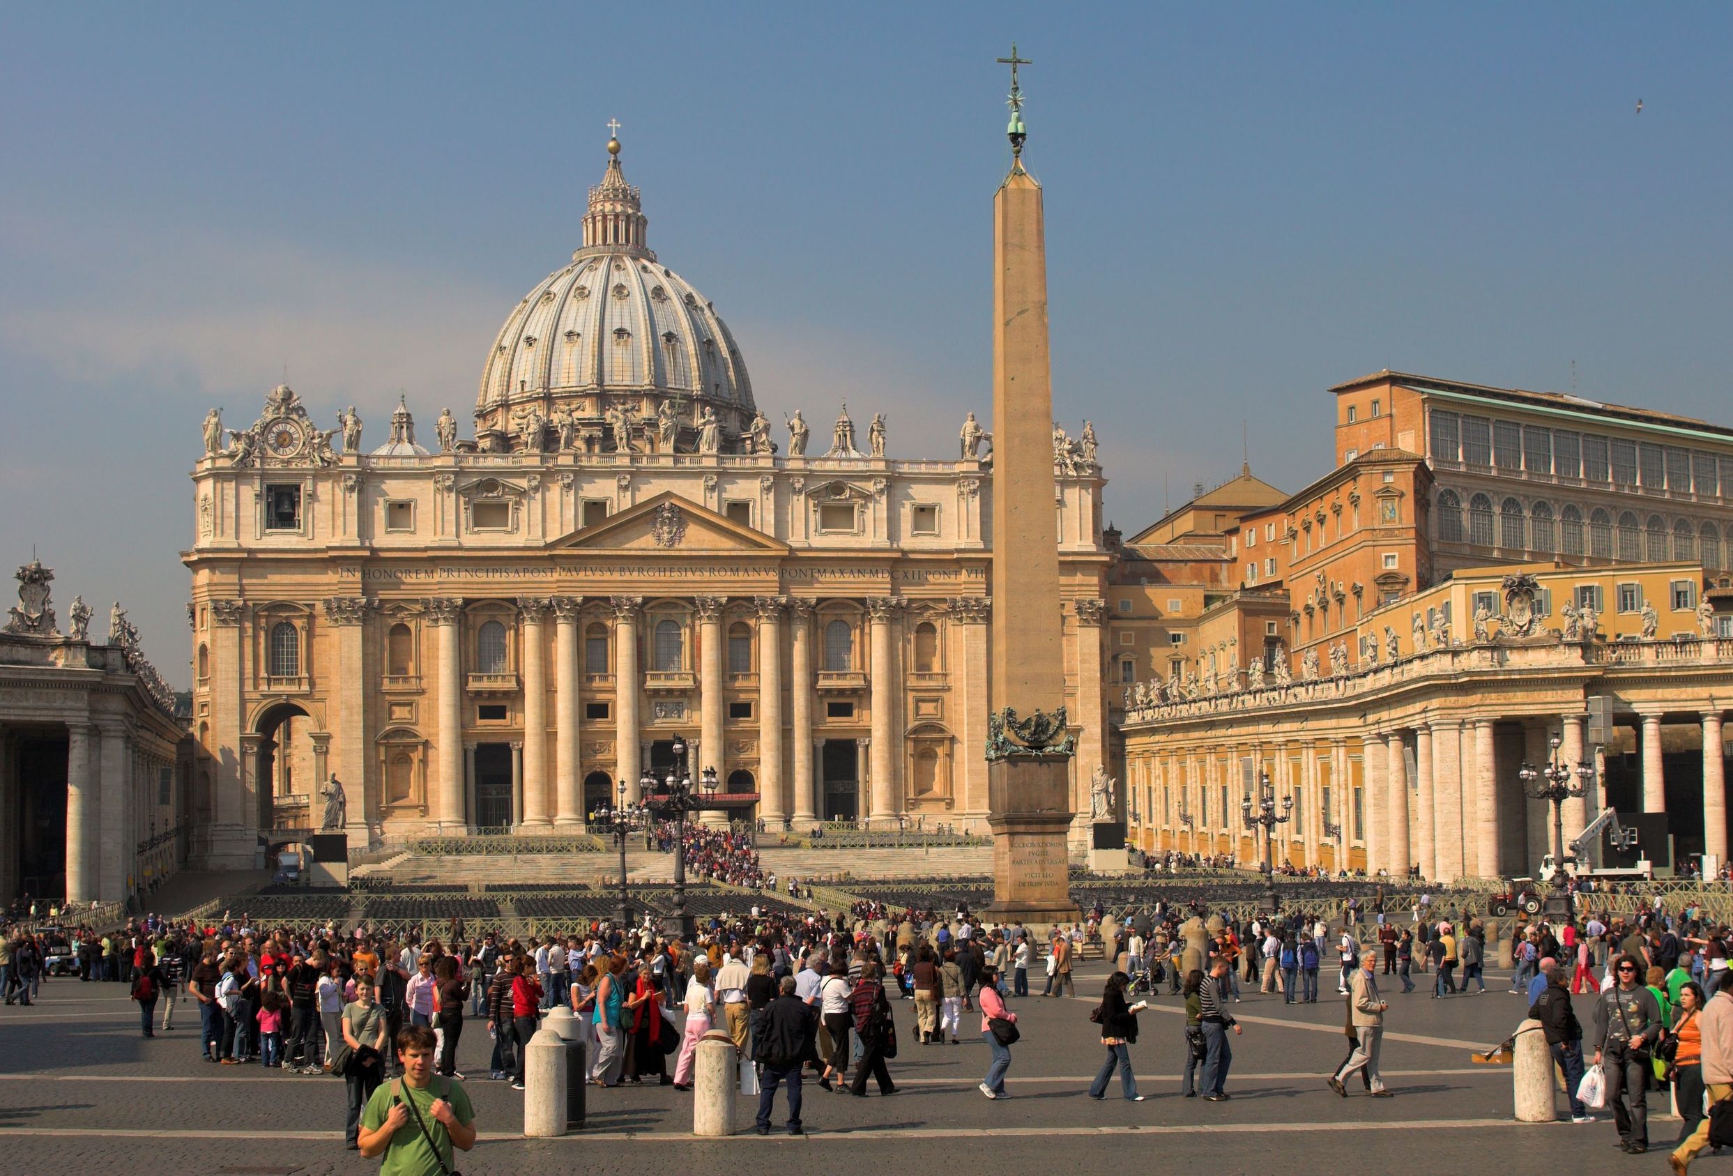
[[[1071,901],[1066,833],[1071,828],[1071,757],[1017,755],[986,766],[993,830],[993,904],[1002,923],[1078,918]]]

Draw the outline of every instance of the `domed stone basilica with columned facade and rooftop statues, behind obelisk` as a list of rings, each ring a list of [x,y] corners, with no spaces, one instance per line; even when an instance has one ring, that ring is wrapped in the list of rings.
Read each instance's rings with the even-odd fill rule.
[[[991,436],[970,416],[951,456],[891,459],[882,416],[827,405],[773,438],[608,152],[582,244],[484,357],[473,436],[445,409],[418,440],[399,404],[366,449],[354,409],[321,428],[288,386],[246,428],[206,417],[194,863],[319,824],[333,776],[352,843],[581,830],[672,769],[771,828],[984,828]],[[1054,462],[1087,792],[1107,753],[1094,435],[1055,426]]]

